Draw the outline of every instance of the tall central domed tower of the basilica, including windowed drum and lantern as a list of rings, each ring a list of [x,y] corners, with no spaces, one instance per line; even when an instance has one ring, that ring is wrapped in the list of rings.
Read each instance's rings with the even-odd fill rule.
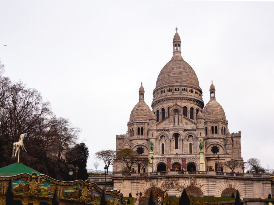
[[[179,108],[172,109],[174,104]],[[173,56],[160,71],[153,90],[153,113],[157,122],[171,115],[170,123],[174,123],[173,118],[177,112],[178,124],[182,124],[183,118],[195,121],[198,111],[203,107],[202,89],[195,71],[181,56],[181,38],[176,31]]]

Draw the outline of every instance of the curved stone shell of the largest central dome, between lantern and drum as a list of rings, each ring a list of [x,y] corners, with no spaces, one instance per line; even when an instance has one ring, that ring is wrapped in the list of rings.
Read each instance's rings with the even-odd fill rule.
[[[199,88],[199,81],[195,71],[184,61],[181,55],[174,55],[160,71],[156,89],[168,84],[184,84]]]

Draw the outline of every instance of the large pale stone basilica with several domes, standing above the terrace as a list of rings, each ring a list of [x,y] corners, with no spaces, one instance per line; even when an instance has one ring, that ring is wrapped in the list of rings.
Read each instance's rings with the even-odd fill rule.
[[[211,80],[211,79],[210,79]],[[210,81],[209,81],[210,82]],[[222,106],[216,101],[213,81],[209,102],[204,105],[202,88],[192,67],[181,56],[181,39],[176,31],[173,56],[160,71],[153,90],[152,111],[145,103],[141,84],[139,102],[131,111],[125,135],[116,135],[116,151],[130,148],[149,165],[133,172],[219,171],[230,172],[224,162],[241,157],[241,132],[228,131]],[[137,94],[137,92],[136,92]],[[122,171],[123,162],[114,161],[113,171]],[[236,172],[242,172],[237,167]]]

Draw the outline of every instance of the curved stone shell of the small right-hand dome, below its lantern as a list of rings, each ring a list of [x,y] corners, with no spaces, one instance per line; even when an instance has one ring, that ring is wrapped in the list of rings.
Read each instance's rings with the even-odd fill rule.
[[[206,104],[203,109],[204,119],[216,119],[221,118],[226,120],[226,115],[223,111],[222,106],[215,100],[210,99],[210,101]]]

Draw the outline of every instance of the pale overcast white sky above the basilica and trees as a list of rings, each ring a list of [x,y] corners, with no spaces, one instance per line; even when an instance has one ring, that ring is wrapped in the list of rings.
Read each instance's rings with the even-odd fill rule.
[[[274,2],[2,0],[0,58],[83,130],[94,169],[94,153],[125,134],[141,81],[151,107],[177,26],[205,104],[213,79],[244,160],[274,169],[273,19]]]

